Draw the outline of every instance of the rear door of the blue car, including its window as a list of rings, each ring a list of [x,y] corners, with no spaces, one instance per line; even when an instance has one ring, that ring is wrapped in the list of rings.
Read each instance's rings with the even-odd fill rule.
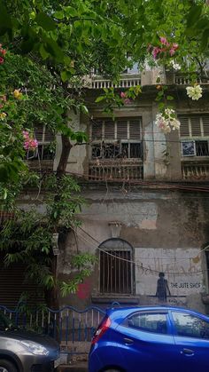
[[[174,336],[165,311],[140,311],[117,328],[121,365],[126,371],[176,372]]]

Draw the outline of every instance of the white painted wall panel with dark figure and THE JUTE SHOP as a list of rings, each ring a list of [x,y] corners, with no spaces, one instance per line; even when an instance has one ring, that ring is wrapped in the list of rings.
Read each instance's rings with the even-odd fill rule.
[[[203,271],[200,249],[135,249],[135,289],[160,302],[174,302],[201,292]]]

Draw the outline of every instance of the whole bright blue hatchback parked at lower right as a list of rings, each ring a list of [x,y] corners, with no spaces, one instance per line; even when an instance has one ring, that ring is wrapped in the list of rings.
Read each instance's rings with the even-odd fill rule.
[[[89,372],[208,372],[209,317],[171,306],[109,309]]]

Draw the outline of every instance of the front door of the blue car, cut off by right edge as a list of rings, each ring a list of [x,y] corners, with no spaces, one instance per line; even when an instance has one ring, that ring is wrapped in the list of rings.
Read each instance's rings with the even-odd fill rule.
[[[209,321],[189,312],[172,311],[176,361],[183,372],[209,370]]]

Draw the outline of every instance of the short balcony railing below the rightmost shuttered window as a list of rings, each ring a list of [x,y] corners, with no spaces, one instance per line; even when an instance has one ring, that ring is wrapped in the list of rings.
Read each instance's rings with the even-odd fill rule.
[[[182,178],[190,180],[204,180],[209,178],[209,162],[182,163]]]

